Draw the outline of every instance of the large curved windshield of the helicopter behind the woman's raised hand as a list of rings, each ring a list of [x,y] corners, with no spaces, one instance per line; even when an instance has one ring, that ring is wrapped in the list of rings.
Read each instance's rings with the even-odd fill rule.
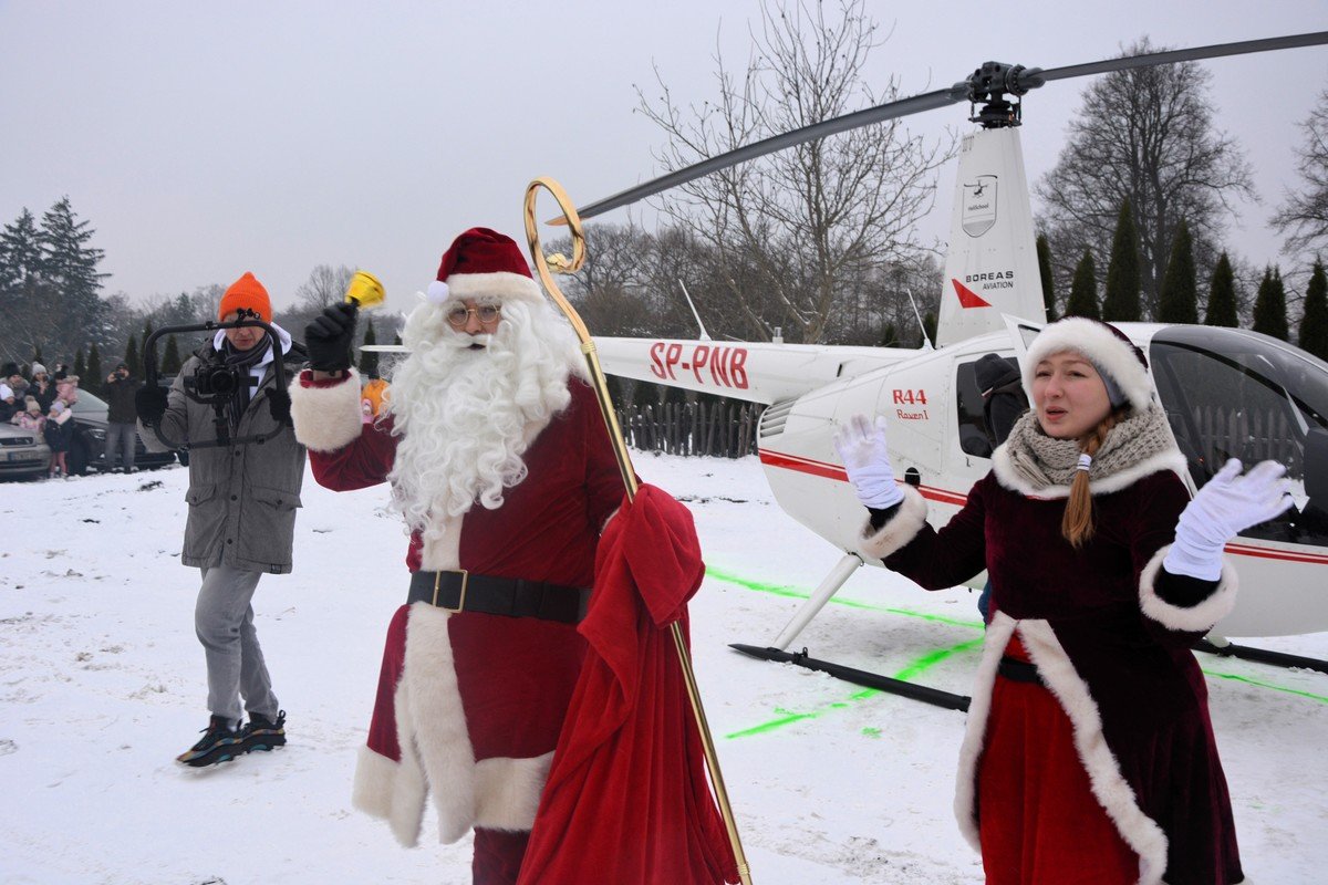
[[[1214,326],[1158,332],[1149,360],[1195,486],[1228,458],[1287,466],[1296,507],[1242,535],[1328,544],[1328,364],[1264,334]]]

